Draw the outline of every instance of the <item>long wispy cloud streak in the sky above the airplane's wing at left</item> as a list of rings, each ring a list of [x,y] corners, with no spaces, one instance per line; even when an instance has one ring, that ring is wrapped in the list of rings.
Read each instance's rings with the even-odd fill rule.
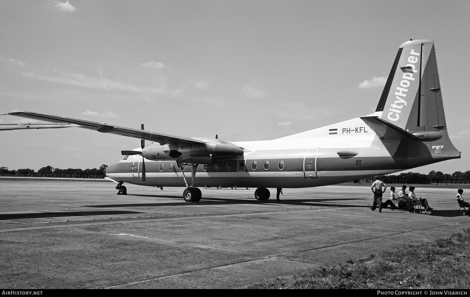
[[[166,86],[161,88],[139,87],[125,84],[119,81],[113,81],[103,77],[89,77],[80,73],[67,73],[65,71],[53,71],[52,75],[41,75],[34,72],[23,72],[26,78],[45,80],[49,82],[79,86],[84,88],[102,89],[107,92],[118,91],[137,94],[166,94]]]

